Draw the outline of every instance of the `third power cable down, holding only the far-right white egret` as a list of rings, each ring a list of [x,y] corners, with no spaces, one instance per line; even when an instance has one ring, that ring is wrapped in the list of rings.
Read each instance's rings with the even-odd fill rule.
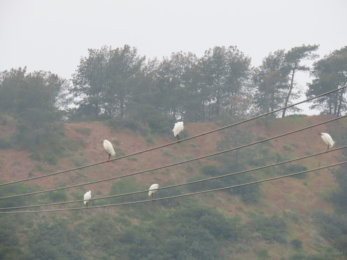
[[[344,149],[347,146],[342,146],[342,147],[338,147],[335,149],[331,149],[331,151],[336,151],[336,150],[340,150],[340,149]],[[256,170],[262,170],[264,168],[268,168],[268,167],[272,167],[272,166],[277,166],[277,165],[281,165],[281,164],[285,164],[285,163],[290,163],[290,162],[294,162],[294,161],[298,161],[301,159],[306,159],[309,157],[313,157],[313,156],[317,156],[317,155],[321,155],[321,154],[325,154],[326,152],[320,152],[320,153],[316,153],[316,154],[312,154],[312,155],[306,155],[303,157],[299,157],[299,158],[295,158],[295,159],[291,159],[288,161],[283,161],[283,162],[279,162],[279,163],[274,163],[274,164],[270,164],[270,165],[266,165],[266,166],[261,166],[261,167],[257,167],[257,168],[253,168],[253,169],[249,169],[249,170],[245,170],[245,171],[240,171],[240,172],[235,172],[235,173],[229,173],[229,174],[225,174],[225,175],[221,175],[221,176],[214,176],[214,177],[210,177],[207,179],[202,179],[202,180],[197,180],[197,181],[191,181],[191,182],[186,182],[186,183],[181,183],[181,184],[175,184],[175,185],[170,185],[170,186],[166,186],[166,187],[162,187],[162,188],[158,188],[155,190],[162,190],[162,189],[168,189],[168,188],[174,188],[174,187],[179,187],[179,186],[183,186],[183,185],[188,185],[188,184],[193,184],[193,183],[198,183],[198,182],[203,182],[203,181],[210,181],[210,180],[215,180],[215,179],[220,179],[223,177],[228,177],[228,176],[232,176],[232,175],[236,175],[236,174],[240,174],[240,173],[247,173],[247,172],[252,172],[252,171],[256,171]],[[148,192],[148,190],[143,190],[143,191],[135,191],[135,192],[129,192],[129,193],[123,193],[123,194],[117,194],[117,195],[110,195],[110,196],[105,196],[105,197],[99,197],[99,198],[92,198],[89,200],[100,200],[100,199],[108,199],[108,198],[115,198],[115,197],[121,197],[121,196],[127,196],[127,195],[132,195],[132,194],[138,194],[138,193],[143,193],[143,192]],[[88,200],[88,201],[89,201]],[[74,200],[74,201],[65,201],[65,202],[56,202],[56,203],[50,203],[50,204],[41,204],[41,205],[31,205],[31,206],[20,206],[20,207],[10,207],[10,208],[0,208],[0,210],[5,210],[5,209],[20,209],[20,208],[33,208],[33,207],[44,207],[44,206],[53,206],[53,205],[61,205],[61,204],[68,204],[68,203],[76,203],[76,202],[82,202],[83,200]]]

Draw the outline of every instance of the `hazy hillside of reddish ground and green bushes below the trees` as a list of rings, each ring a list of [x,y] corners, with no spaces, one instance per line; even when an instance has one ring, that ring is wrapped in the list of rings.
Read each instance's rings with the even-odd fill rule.
[[[331,119],[331,116],[289,116],[247,123],[237,131],[210,133],[132,157],[72,172],[0,187],[0,197],[66,187],[126,175],[213,154],[221,147],[277,136]],[[288,136],[160,170],[71,189],[0,200],[16,207],[146,190],[252,169],[326,149],[317,133],[337,124],[323,124]],[[223,125],[185,123],[180,139]],[[116,157],[174,142],[172,131],[156,133],[145,125],[115,127],[110,122],[68,123],[33,150],[8,144],[16,121],[0,126],[0,181],[6,183],[106,161],[102,147],[109,140]],[[231,131],[231,130],[230,130]],[[231,136],[231,137],[229,137]],[[251,138],[251,139],[249,139]],[[333,137],[334,138],[334,137]],[[237,140],[236,140],[237,139]],[[336,146],[339,142],[336,140]],[[240,141],[241,142],[241,141]],[[242,144],[241,144],[242,145]],[[225,178],[159,190],[163,198],[268,179],[337,163],[341,151]],[[343,259],[347,223],[330,202],[338,185],[327,170],[194,196],[83,210],[0,214],[0,259]],[[101,206],[148,200],[148,193],[88,202]],[[83,207],[72,203],[20,210]]]

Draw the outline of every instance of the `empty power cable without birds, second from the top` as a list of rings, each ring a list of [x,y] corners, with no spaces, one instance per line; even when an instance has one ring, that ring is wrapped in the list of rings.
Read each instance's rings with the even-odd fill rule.
[[[31,193],[25,193],[25,194],[18,194],[18,195],[12,195],[12,196],[7,196],[7,197],[1,197],[0,199],[15,198],[15,197],[21,197],[21,196],[27,196],[27,195],[44,193],[44,192],[50,192],[50,191],[57,191],[57,190],[75,188],[75,187],[89,185],[89,184],[94,184],[94,183],[99,183],[99,182],[103,182],[103,181],[110,181],[110,180],[115,180],[115,179],[119,179],[119,178],[123,178],[123,177],[133,176],[133,175],[137,175],[137,174],[140,174],[140,173],[151,172],[151,171],[159,170],[159,169],[162,169],[162,168],[171,167],[171,166],[175,166],[175,165],[179,165],[179,164],[183,164],[183,163],[187,163],[187,162],[192,162],[192,161],[196,161],[198,159],[203,159],[203,158],[206,158],[206,157],[210,157],[210,156],[226,153],[228,151],[233,151],[233,150],[236,150],[236,149],[240,149],[240,148],[248,147],[248,146],[251,146],[251,145],[259,144],[261,142],[269,141],[269,140],[272,140],[272,139],[275,139],[275,138],[279,138],[279,137],[282,137],[282,136],[290,135],[291,133],[296,133],[296,132],[299,132],[299,131],[302,131],[302,130],[305,130],[305,129],[308,129],[308,128],[316,127],[316,126],[321,125],[321,124],[325,124],[325,123],[329,123],[329,122],[332,122],[332,121],[335,121],[335,120],[338,120],[338,119],[341,119],[341,118],[345,118],[346,116],[347,116],[347,114],[343,115],[343,116],[340,116],[338,118],[333,118],[333,119],[330,119],[330,120],[327,120],[327,121],[324,121],[324,122],[321,122],[321,123],[310,125],[308,127],[304,127],[304,128],[298,129],[298,130],[294,130],[294,131],[291,131],[291,132],[283,133],[283,134],[278,135],[278,136],[274,136],[274,137],[270,137],[270,138],[263,139],[263,140],[260,140],[260,141],[256,141],[256,142],[253,142],[251,144],[242,145],[242,146],[239,146],[239,147],[236,147],[236,148],[231,148],[231,149],[220,151],[220,152],[217,152],[217,153],[214,153],[214,154],[204,155],[204,156],[193,158],[193,159],[189,159],[189,160],[183,161],[183,162],[178,162],[178,163],[173,163],[173,164],[169,164],[169,165],[165,165],[165,166],[152,168],[150,170],[144,170],[144,171],[140,171],[140,172],[135,172],[135,173],[125,174],[125,175],[121,175],[121,176],[111,177],[111,178],[104,179],[104,180],[98,180],[98,181],[92,181],[92,182],[87,182],[87,183],[82,183],[82,184],[76,184],[76,185],[72,185],[72,186],[61,187],[61,188],[56,188],[56,189],[51,189],[51,190],[36,191],[36,192],[31,192]]]

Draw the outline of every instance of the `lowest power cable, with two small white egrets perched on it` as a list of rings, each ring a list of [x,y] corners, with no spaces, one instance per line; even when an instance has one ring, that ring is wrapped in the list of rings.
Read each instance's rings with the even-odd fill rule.
[[[311,170],[307,170],[307,171],[291,173],[291,174],[287,174],[287,175],[283,175],[283,176],[277,176],[277,177],[264,179],[264,180],[260,180],[260,181],[253,181],[253,182],[248,182],[248,183],[243,183],[243,184],[238,184],[238,185],[233,185],[233,186],[223,187],[223,188],[218,188],[218,189],[213,189],[213,190],[198,191],[198,192],[181,194],[181,195],[170,196],[170,197],[165,197],[165,198],[158,198],[158,199],[155,199],[155,200],[173,199],[173,198],[192,196],[192,195],[201,194],[201,193],[207,193],[207,192],[212,192],[212,191],[220,191],[220,190],[232,189],[232,188],[242,187],[242,186],[245,186],[245,185],[251,185],[251,184],[261,183],[261,182],[265,182],[265,181],[272,181],[272,180],[276,180],[276,179],[281,179],[281,178],[284,178],[284,177],[294,176],[294,175],[298,175],[298,174],[302,174],[302,173],[318,171],[318,170],[322,170],[322,169],[333,167],[333,166],[338,166],[338,165],[345,164],[345,163],[347,163],[347,161],[346,162],[341,162],[341,163],[336,163],[336,164],[331,164],[331,165],[328,165],[328,166],[323,166],[323,167],[319,167],[319,168],[315,168],[315,169],[311,169]],[[104,208],[104,207],[112,207],[112,206],[130,205],[130,204],[150,202],[150,201],[152,201],[152,200],[141,200],[141,201],[133,201],[133,202],[124,202],[124,203],[117,203],[117,204],[110,204],[110,205],[93,206],[93,207],[88,207],[88,209],[89,208]],[[78,209],[87,209],[87,208],[83,207],[83,208],[47,209],[47,210],[33,210],[33,211],[7,211],[7,212],[0,212],[0,214],[38,213],[38,212],[67,211],[67,210],[78,210]]]

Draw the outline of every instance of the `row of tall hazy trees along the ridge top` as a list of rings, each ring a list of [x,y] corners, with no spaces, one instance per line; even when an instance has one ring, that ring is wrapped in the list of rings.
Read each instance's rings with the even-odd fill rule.
[[[307,97],[346,85],[347,46],[315,61],[319,45],[277,50],[251,66],[236,46],[215,46],[198,58],[188,52],[146,61],[136,47],[88,49],[71,81],[54,73],[26,68],[0,72],[0,113],[37,129],[62,120],[121,118],[146,122],[167,116],[204,122],[228,115],[241,119],[290,104],[302,93],[298,71],[310,72]],[[72,104],[75,107],[71,108]],[[345,90],[315,99],[312,109],[339,116],[346,110]],[[298,109],[288,109],[297,112]],[[284,117],[288,110],[278,112]]]

